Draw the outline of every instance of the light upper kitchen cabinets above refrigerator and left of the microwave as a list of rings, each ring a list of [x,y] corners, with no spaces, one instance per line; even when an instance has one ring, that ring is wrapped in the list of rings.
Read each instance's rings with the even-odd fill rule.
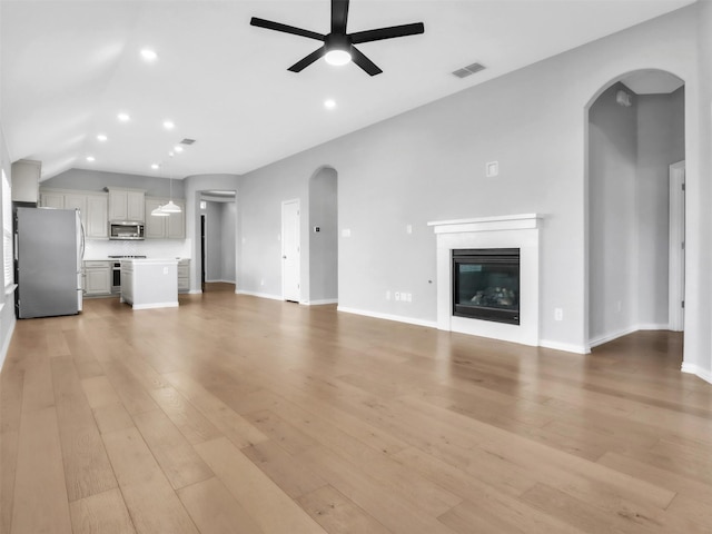
[[[87,239],[109,237],[106,194],[42,189],[40,190],[40,206],[43,208],[78,209]]]

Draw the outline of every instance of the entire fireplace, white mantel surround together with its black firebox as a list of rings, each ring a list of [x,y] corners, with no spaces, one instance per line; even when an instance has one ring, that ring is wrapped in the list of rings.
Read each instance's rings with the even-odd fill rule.
[[[540,221],[522,214],[428,222],[436,235],[438,328],[538,345]],[[493,261],[493,253],[503,257]],[[473,320],[473,312],[491,317]]]

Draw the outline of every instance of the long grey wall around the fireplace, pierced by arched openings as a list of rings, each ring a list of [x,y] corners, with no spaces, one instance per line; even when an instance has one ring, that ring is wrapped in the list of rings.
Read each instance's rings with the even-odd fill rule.
[[[278,280],[279,201],[300,197],[307,210],[308,180],[327,165],[338,172],[339,229],[350,230],[339,237],[339,306],[434,322],[435,238],[426,222],[537,212],[541,338],[585,350],[585,108],[621,75],[656,68],[688,82],[685,129],[696,128],[696,20],[692,6],[246,175],[245,287],[259,291],[260,279]],[[699,161],[694,144],[686,159]],[[488,179],[493,160],[501,175]],[[689,176],[699,181],[694,161]],[[301,271],[308,283],[308,265]],[[386,300],[387,289],[412,293],[413,301]],[[554,320],[554,308],[564,320]]]

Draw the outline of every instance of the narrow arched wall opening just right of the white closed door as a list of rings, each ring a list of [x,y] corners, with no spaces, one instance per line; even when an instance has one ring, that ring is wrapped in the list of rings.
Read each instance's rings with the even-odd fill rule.
[[[338,184],[333,167],[309,179],[309,304],[338,303]]]

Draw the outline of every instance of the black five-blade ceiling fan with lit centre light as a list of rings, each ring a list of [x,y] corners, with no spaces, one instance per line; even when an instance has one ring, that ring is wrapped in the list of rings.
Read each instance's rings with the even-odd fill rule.
[[[393,39],[395,37],[415,36],[425,31],[423,22],[415,22],[412,24],[390,26],[375,30],[346,33],[348,2],[349,0],[332,0],[332,32],[327,34],[295,28],[294,26],[287,26],[280,22],[259,19],[257,17],[253,17],[249,23],[259,28],[293,33],[295,36],[307,37],[309,39],[316,39],[317,41],[324,42],[320,48],[289,67],[288,70],[293,72],[300,72],[317,59],[326,56],[326,61],[332,65],[346,65],[349,61],[354,61],[370,76],[376,76],[383,72],[383,70],[380,70],[370,59],[354,47],[354,44],[379,41],[382,39]]]

